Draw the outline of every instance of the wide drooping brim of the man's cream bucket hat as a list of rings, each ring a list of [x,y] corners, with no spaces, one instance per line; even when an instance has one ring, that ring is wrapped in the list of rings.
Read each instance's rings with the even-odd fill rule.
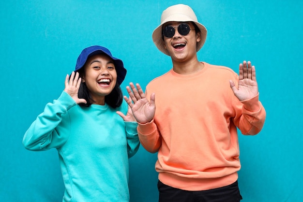
[[[157,48],[167,56],[169,53],[167,49],[164,47],[164,41],[162,37],[162,26],[167,22],[193,22],[197,25],[200,30],[201,40],[197,43],[197,52],[202,48],[205,43],[207,30],[206,28],[200,24],[199,22],[193,21],[192,18],[188,17],[185,14],[173,14],[168,16],[156,29],[152,32],[152,41],[157,46]]]

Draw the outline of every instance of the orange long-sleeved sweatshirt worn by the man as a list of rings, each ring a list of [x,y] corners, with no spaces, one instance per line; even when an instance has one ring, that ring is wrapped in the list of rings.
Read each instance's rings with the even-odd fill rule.
[[[266,112],[258,96],[239,101],[229,80],[238,74],[223,66],[204,63],[195,74],[173,70],[153,79],[147,98],[155,93],[152,122],[138,125],[144,148],[158,152],[159,180],[183,190],[207,190],[232,184],[240,170],[237,127],[255,135]]]

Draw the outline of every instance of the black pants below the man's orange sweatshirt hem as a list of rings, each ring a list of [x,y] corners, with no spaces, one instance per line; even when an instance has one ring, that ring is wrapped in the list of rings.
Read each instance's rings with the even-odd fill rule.
[[[172,188],[158,181],[159,202],[240,202],[238,181],[222,188],[187,191]]]

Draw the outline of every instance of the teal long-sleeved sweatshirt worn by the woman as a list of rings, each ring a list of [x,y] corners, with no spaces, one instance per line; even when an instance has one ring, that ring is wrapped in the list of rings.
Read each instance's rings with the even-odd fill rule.
[[[114,109],[82,107],[66,93],[48,103],[23,138],[25,148],[56,148],[65,185],[63,202],[129,202],[128,159],[139,148],[136,122],[124,122],[123,100]]]

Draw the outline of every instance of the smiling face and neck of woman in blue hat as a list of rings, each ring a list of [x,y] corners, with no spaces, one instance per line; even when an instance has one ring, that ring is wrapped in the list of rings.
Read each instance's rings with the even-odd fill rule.
[[[117,72],[113,60],[105,54],[88,58],[82,82],[90,91],[93,104],[105,104],[105,96],[116,86]]]

